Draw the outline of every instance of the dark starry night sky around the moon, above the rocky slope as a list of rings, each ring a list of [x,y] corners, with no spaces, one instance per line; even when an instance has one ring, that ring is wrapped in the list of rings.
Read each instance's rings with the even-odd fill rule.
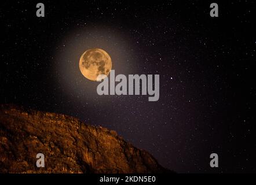
[[[255,2],[1,2],[0,103],[114,129],[181,173],[256,172]],[[160,75],[159,101],[97,95],[79,58],[98,47],[116,74]],[[210,168],[210,154],[219,168]]]

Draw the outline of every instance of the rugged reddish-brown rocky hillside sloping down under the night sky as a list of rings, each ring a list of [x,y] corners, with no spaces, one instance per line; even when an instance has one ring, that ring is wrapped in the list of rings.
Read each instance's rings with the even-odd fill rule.
[[[45,168],[36,166],[36,154]],[[168,173],[115,131],[63,114],[0,106],[0,173]]]

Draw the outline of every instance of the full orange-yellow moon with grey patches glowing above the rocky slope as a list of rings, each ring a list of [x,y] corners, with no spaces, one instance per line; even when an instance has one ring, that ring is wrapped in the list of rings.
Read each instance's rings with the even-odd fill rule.
[[[89,49],[82,54],[79,68],[83,76],[96,81],[98,75],[108,76],[112,68],[112,61],[109,54],[103,49]],[[101,77],[101,79],[103,78]]]

